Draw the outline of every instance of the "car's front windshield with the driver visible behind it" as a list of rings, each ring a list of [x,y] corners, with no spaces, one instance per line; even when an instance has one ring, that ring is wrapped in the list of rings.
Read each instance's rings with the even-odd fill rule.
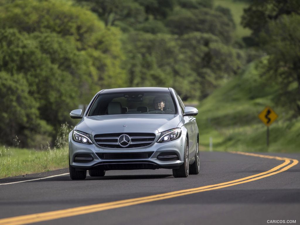
[[[100,94],[88,116],[134,113],[176,114],[170,92],[118,92]]]

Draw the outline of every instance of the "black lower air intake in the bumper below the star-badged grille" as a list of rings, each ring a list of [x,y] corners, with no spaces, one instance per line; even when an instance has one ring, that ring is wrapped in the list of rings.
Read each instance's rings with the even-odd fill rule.
[[[146,159],[153,152],[118,152],[118,153],[96,153],[101,159]]]

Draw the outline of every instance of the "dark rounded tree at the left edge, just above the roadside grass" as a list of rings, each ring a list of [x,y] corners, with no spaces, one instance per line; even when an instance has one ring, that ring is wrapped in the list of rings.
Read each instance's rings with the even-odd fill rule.
[[[20,146],[36,146],[33,142],[38,135],[42,137],[38,145],[46,144],[52,129],[39,118],[38,103],[29,94],[25,77],[3,71],[0,77],[0,143],[14,145],[18,135]]]

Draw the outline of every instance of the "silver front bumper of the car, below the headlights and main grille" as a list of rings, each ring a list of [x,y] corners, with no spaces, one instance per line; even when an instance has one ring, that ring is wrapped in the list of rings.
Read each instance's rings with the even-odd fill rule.
[[[69,157],[70,166],[78,170],[103,169],[103,170],[137,170],[137,169],[176,169],[184,162],[184,142],[185,135],[182,134],[179,139],[166,143],[157,143],[159,134],[155,137],[154,142],[147,147],[131,149],[110,149],[99,147],[96,143],[87,145],[77,143],[69,137]],[[94,140],[93,140],[94,142]],[[143,159],[101,159],[97,153],[143,153],[153,152],[149,158]],[[161,161],[157,156],[163,152],[174,152],[178,155],[179,160]],[[74,162],[74,156],[78,154],[90,154],[93,158],[90,162]]]

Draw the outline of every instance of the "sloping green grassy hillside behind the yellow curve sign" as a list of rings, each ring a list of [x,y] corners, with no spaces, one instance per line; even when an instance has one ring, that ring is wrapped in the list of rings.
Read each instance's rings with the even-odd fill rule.
[[[255,63],[235,79],[200,102],[197,123],[202,150],[296,152],[300,146],[300,119],[289,119],[291,112],[273,101],[278,93],[274,84],[259,79]],[[266,126],[258,114],[270,106],[278,115],[270,126],[270,146],[266,147]]]

